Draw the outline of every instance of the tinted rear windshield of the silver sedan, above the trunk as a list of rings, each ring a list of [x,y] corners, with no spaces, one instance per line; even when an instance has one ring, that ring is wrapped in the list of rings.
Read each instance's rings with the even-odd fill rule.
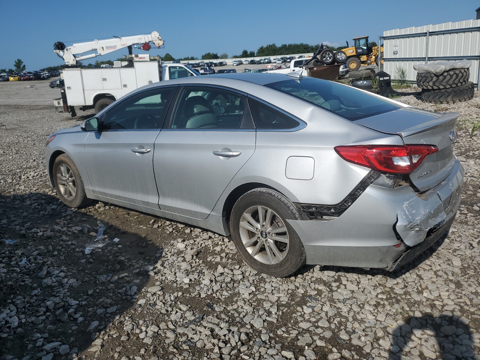
[[[400,107],[353,87],[314,78],[284,80],[265,86],[298,97],[350,121]]]

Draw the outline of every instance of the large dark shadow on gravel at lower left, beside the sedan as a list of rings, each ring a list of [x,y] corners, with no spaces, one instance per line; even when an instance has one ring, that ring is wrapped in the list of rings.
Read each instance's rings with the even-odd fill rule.
[[[1,358],[72,359],[133,305],[161,248],[108,221],[97,238],[98,220],[57,197],[0,195]]]

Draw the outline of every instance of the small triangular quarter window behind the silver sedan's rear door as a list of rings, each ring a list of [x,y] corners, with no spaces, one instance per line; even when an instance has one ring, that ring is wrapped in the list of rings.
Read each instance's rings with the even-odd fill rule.
[[[290,130],[300,125],[300,122],[271,106],[249,97],[253,121],[257,129]]]

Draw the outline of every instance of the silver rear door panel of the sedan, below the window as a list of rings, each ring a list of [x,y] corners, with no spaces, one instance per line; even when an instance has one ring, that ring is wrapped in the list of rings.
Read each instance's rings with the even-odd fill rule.
[[[162,130],[154,156],[160,209],[205,219],[254,150],[255,131]]]

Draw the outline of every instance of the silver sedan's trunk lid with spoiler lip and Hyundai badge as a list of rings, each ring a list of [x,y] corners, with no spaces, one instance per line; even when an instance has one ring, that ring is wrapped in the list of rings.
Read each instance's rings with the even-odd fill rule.
[[[426,191],[437,186],[454,167],[452,144],[456,140],[455,123],[459,115],[401,108],[355,122],[379,132],[398,134],[405,144],[435,145],[438,151],[426,156],[410,174],[412,183],[420,191]]]

